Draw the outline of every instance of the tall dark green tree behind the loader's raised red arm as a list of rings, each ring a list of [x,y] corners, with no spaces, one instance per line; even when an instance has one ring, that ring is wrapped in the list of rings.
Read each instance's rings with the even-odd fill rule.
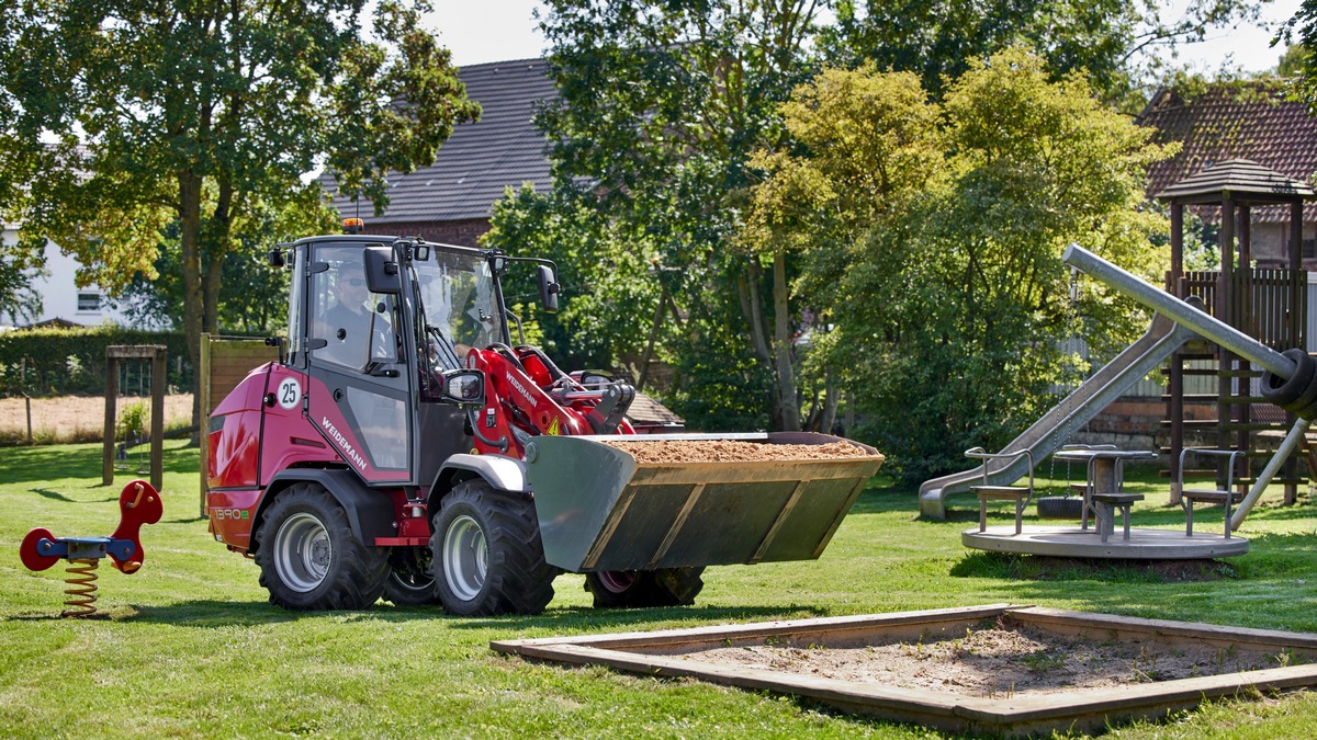
[[[756,410],[768,402],[773,425],[798,428],[792,378],[778,373],[764,387],[756,367],[790,352],[793,321],[773,319],[772,300],[763,299],[772,275],[757,255],[734,249],[732,237],[755,178],[749,154],[781,138],[774,105],[810,71],[806,45],[820,3],[548,5],[541,29],[561,97],[540,125],[554,142],[557,188],[572,194],[541,198],[594,213],[599,241],[626,245],[626,274],[652,271],[644,308],[639,295],[615,300],[607,288],[616,261],[582,263],[579,282],[599,304],[639,311],[644,328],[631,336],[657,337],[653,352],[664,352],[664,338],[682,348],[665,356],[681,373],[678,406],[695,384],[723,388],[716,400],[682,408],[694,425],[763,425]],[[512,246],[498,238],[490,244]],[[649,352],[648,341],[639,344]],[[701,352],[687,352],[697,344]]]

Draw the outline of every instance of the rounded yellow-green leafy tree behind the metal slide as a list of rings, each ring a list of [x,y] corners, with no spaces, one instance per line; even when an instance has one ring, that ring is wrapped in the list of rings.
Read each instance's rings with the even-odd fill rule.
[[[798,295],[834,327],[820,356],[900,474],[963,466],[1035,419],[1073,362],[1056,342],[1071,323],[1098,353],[1137,330],[1101,286],[1071,305],[1060,253],[1077,241],[1151,277],[1164,220],[1142,179],[1167,151],[1079,75],[1050,82],[1010,49],[936,104],[909,72],[827,70],[784,115],[799,147],[769,155],[747,238],[805,253]]]

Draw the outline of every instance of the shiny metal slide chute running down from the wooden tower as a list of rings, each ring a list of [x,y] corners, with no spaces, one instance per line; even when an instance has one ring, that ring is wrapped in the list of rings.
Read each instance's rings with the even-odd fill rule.
[[[1121,398],[1133,386],[1158,366],[1185,341],[1193,338],[1193,330],[1171,319],[1156,313],[1152,324],[1134,344],[1115,356],[1092,378],[1065,396],[1056,407],[1044,413],[1025,433],[1015,437],[1001,449],[1002,453],[1029,450],[1034,460],[1042,460],[1056,452],[1071,435],[1090,419],[1102,412],[1112,402]],[[988,463],[989,485],[1010,485],[1023,477],[1029,462],[1023,458],[1002,461],[998,466]],[[930,519],[947,517],[947,494],[967,491],[975,482],[982,481],[982,466],[952,473],[940,478],[925,481],[919,486],[919,515]]]

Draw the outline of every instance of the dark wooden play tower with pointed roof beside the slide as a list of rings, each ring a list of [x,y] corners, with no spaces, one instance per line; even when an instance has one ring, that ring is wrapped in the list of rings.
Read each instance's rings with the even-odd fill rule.
[[[1317,198],[1313,188],[1300,180],[1268,170],[1247,159],[1230,159],[1204,169],[1156,195],[1171,208],[1171,270],[1167,291],[1177,298],[1197,296],[1205,309],[1230,327],[1249,334],[1276,352],[1304,348],[1306,340],[1308,271],[1303,269],[1303,207]],[[1287,207],[1289,221],[1284,242],[1285,267],[1256,267],[1252,253],[1251,216],[1254,208]],[[1184,270],[1184,209],[1195,207],[1204,216],[1216,209],[1220,223],[1218,271]],[[1189,361],[1209,359],[1202,363]],[[1210,373],[1217,378],[1214,394],[1185,394],[1187,374]],[[1171,358],[1167,388],[1167,423],[1171,428],[1168,453],[1171,481],[1179,479],[1180,452],[1187,435],[1196,440],[1191,446],[1245,450],[1249,456],[1267,456],[1258,444],[1259,432],[1287,429],[1287,419],[1277,407],[1262,404],[1254,391],[1254,379],[1262,375],[1247,359],[1208,341],[1191,342]],[[1217,406],[1214,420],[1185,419],[1185,402],[1212,402]],[[1251,469],[1251,466],[1250,466]],[[1218,473],[1223,475],[1223,470]],[[1247,486],[1251,471],[1238,483]],[[1291,503],[1297,483],[1295,465],[1287,463],[1285,500]],[[1171,503],[1180,502],[1176,483],[1171,485]]]

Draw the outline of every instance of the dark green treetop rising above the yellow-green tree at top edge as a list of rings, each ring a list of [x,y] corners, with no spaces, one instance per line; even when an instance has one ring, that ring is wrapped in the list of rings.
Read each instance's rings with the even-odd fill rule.
[[[1154,50],[1202,41],[1208,32],[1259,17],[1260,3],[1192,0],[1163,17],[1160,0],[840,0],[838,22],[824,36],[834,63],[872,61],[880,70],[913,71],[940,97],[975,62],[1015,43],[1046,61],[1052,79],[1087,70],[1110,101],[1134,111],[1142,76],[1163,59]]]

